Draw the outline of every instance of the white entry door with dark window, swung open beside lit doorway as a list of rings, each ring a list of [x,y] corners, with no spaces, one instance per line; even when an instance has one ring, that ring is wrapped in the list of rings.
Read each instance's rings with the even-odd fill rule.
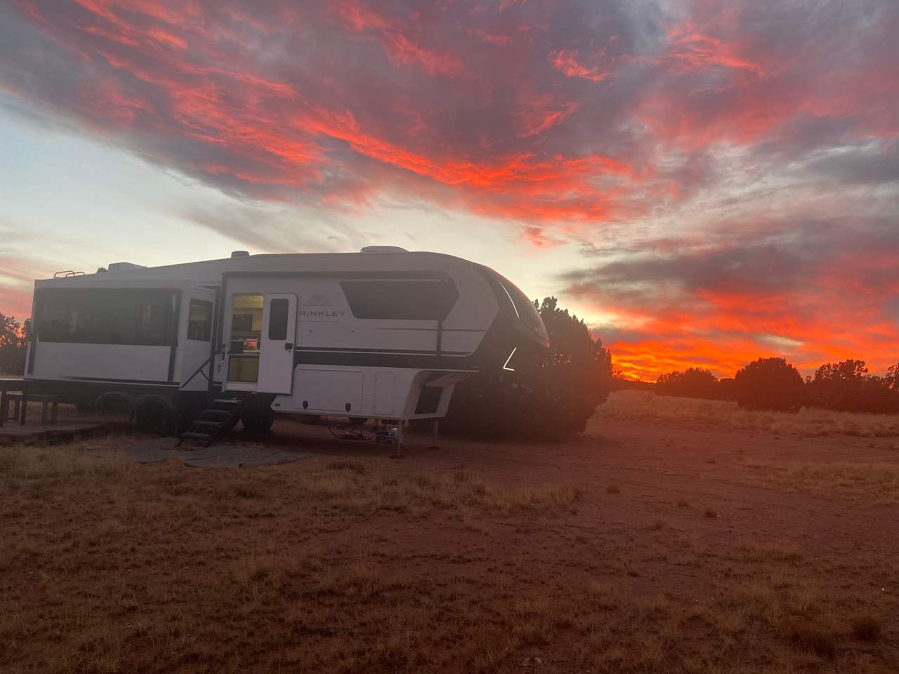
[[[259,386],[264,393],[293,390],[293,346],[297,336],[297,296],[265,295],[259,345]]]

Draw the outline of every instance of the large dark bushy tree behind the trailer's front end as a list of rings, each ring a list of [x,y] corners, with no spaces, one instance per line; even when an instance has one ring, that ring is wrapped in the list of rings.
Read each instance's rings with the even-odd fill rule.
[[[583,320],[556,297],[534,302],[550,348],[501,377],[470,377],[456,386],[444,430],[480,438],[562,438],[583,431],[609,397],[612,362]]]

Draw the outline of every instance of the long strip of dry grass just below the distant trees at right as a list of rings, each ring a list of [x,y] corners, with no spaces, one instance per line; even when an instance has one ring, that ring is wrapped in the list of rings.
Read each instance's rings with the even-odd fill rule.
[[[597,412],[605,421],[689,424],[701,428],[743,430],[772,435],[899,438],[899,415],[832,412],[803,408],[799,412],[743,410],[735,403],[693,400],[645,391],[616,391]]]

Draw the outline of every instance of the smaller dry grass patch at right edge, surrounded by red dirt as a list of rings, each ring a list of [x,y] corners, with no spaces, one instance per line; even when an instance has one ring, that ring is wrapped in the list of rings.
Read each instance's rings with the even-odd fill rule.
[[[765,478],[789,489],[854,496],[866,501],[899,500],[899,464],[856,461],[745,461]]]

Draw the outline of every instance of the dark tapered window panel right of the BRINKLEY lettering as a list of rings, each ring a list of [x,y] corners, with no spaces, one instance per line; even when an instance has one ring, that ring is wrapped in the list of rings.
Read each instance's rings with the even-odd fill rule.
[[[449,279],[341,281],[356,318],[441,321],[458,300]]]

